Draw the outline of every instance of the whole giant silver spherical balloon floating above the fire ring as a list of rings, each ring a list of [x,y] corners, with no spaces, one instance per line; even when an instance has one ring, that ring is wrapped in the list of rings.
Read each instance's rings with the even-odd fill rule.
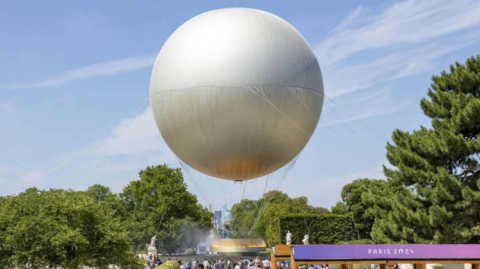
[[[155,62],[150,103],[171,150],[213,177],[249,180],[297,156],[323,82],[305,38],[267,12],[230,8],[181,25]]]

